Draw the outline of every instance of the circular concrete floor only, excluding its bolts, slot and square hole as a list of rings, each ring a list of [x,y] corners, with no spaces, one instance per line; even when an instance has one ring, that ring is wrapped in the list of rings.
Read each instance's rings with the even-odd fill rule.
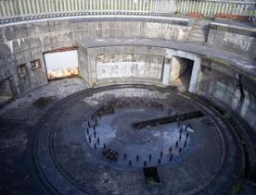
[[[179,154],[177,149],[174,149],[173,162],[169,162],[168,149],[178,140],[177,124],[134,131],[132,123],[145,118],[166,116],[169,107],[173,113],[199,108],[174,92],[162,93],[157,89],[149,91],[138,86],[128,89],[110,87],[106,90],[107,88],[96,89],[72,97],[65,104],[59,105],[58,110],[46,116],[45,122],[39,128],[37,168],[40,167],[45,177],[60,193],[194,193],[207,189],[210,183],[217,181],[215,178],[223,169],[226,149],[222,133],[211,121],[211,116],[186,121],[194,128],[194,133],[191,133],[188,139],[187,148],[183,148],[184,152]],[[102,142],[96,145],[95,150],[96,139],[92,138],[90,144],[86,135],[88,119],[109,101],[117,103],[120,98],[158,101],[164,105],[164,110],[134,104],[117,109],[114,115],[98,118],[96,137]],[[91,137],[94,137],[92,133],[93,129],[90,128]],[[235,152],[234,142],[231,137],[229,139],[232,149],[227,152]],[[181,145],[184,144],[183,141]],[[103,142],[121,154],[117,162],[109,161],[102,155]],[[163,156],[158,165],[161,151]],[[122,158],[124,153],[127,154],[126,159]],[[137,154],[140,155],[138,162],[135,161]],[[161,183],[154,187],[146,185],[142,174],[143,163],[148,154],[152,154],[152,160],[147,165],[157,166],[160,173]],[[236,152],[233,155],[236,157]],[[132,165],[128,164],[129,160],[133,162]],[[236,160],[230,159],[228,167],[229,172],[224,174],[225,177],[230,177],[231,173],[236,172]],[[222,189],[219,186],[213,188],[214,190],[210,188],[213,191],[211,193],[224,190],[231,183],[232,179],[228,180]]]

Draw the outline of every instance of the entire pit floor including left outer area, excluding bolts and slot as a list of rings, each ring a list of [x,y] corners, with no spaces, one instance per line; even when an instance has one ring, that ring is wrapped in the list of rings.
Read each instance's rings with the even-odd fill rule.
[[[85,90],[63,99],[84,89],[81,79],[58,80],[0,110],[1,194],[216,194],[232,186],[239,152],[224,123],[211,112],[174,91],[139,85]],[[34,107],[42,96],[54,98],[43,108]],[[123,98],[158,102],[164,109],[132,104],[98,118],[100,144],[95,150],[86,134],[88,120],[104,104]],[[131,127],[134,121],[167,116],[168,108],[171,115],[205,114],[182,124],[189,123],[194,132],[181,153],[173,150],[172,162],[169,148],[179,139],[177,123],[137,131]],[[117,162],[102,155],[104,142],[120,153]],[[158,167],[158,185],[145,183],[142,167],[149,153],[147,165]]]

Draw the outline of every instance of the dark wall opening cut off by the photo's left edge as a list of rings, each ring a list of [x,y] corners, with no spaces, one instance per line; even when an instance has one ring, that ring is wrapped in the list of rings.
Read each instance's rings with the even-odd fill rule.
[[[11,79],[0,81],[0,105],[6,104],[13,98]]]

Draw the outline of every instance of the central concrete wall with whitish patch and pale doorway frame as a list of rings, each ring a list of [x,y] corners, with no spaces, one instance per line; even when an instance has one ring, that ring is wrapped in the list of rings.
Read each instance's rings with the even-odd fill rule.
[[[80,45],[80,67],[82,77],[91,86],[127,82],[169,86],[170,80],[177,79],[190,67],[189,79],[183,80],[179,89],[196,90],[200,71],[198,55],[152,46],[87,44],[88,48],[86,43]]]

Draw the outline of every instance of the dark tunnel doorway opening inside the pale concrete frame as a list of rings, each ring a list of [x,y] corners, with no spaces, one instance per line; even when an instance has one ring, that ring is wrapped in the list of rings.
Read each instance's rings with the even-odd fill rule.
[[[177,87],[179,91],[188,91],[193,65],[194,60],[173,56],[170,74],[170,85]]]

